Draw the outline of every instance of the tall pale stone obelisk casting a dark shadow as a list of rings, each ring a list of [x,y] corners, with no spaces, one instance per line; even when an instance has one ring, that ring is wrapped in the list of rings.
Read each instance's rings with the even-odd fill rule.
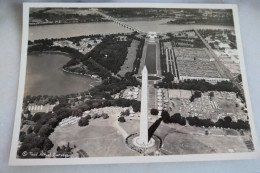
[[[140,115],[140,136],[139,144],[148,145],[148,71],[146,66],[142,70],[142,95]]]

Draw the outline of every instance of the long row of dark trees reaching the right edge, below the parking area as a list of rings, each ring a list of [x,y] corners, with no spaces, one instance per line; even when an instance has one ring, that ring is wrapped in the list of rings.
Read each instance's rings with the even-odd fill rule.
[[[219,119],[217,122],[213,122],[210,119],[200,119],[198,117],[187,117],[187,121],[191,126],[197,127],[219,127],[219,128],[230,128],[230,129],[244,129],[249,130],[250,125],[248,121],[238,120],[237,122],[232,121],[230,116],[226,116],[223,119]]]

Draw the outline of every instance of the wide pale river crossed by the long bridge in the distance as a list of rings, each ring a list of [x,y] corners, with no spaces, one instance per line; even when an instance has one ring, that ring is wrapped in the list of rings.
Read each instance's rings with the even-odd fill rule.
[[[182,31],[189,29],[233,29],[233,27],[230,26],[165,24],[167,21],[167,19],[153,21],[130,20],[124,21],[124,23],[133,26],[143,32],[154,31],[158,33]],[[44,38],[66,38],[90,34],[116,34],[129,32],[130,30],[117,25],[114,22],[40,25],[30,27],[29,40],[33,41]]]

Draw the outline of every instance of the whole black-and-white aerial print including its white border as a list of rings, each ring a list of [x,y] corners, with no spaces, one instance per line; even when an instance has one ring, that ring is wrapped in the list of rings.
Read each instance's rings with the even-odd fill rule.
[[[236,10],[25,4],[10,164],[256,157]]]

